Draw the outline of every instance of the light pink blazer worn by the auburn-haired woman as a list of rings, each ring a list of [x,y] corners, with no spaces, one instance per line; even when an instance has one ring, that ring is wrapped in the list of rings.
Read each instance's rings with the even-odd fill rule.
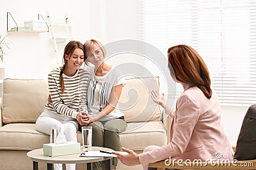
[[[156,150],[140,153],[143,166],[170,157],[172,160],[191,161],[234,158],[221,124],[220,102],[215,92],[212,92],[211,99],[207,99],[198,87],[185,90],[170,116],[173,117],[171,142]]]

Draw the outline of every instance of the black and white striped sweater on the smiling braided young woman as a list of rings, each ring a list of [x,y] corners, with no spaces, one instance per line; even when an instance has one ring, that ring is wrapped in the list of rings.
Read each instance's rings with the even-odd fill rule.
[[[76,118],[80,111],[87,111],[87,89],[88,89],[88,71],[80,68],[74,76],[62,74],[65,90],[61,94],[60,87],[60,68],[53,69],[48,74],[49,94],[52,99],[51,104],[45,104],[47,110],[54,113],[65,115],[70,118]]]

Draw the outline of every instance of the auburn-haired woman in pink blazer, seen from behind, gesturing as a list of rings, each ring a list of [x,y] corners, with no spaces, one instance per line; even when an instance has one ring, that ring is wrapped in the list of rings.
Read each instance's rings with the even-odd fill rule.
[[[175,109],[166,106],[166,98],[152,91],[152,99],[173,118],[171,141],[165,146],[148,146],[143,153],[122,148],[128,155],[114,152],[127,166],[148,164],[160,160],[228,159],[234,152],[221,124],[220,101],[211,89],[211,79],[204,60],[188,45],[168,49],[170,74],[184,92],[177,99]],[[172,66],[172,68],[170,67]],[[173,69],[173,71],[172,71]],[[173,73],[174,72],[174,73]]]

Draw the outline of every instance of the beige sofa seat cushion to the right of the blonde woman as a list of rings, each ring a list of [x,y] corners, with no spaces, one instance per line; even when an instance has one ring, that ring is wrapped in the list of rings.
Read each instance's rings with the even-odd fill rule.
[[[120,143],[131,150],[144,150],[148,145],[163,146],[167,143],[162,122],[134,122],[120,133]]]

